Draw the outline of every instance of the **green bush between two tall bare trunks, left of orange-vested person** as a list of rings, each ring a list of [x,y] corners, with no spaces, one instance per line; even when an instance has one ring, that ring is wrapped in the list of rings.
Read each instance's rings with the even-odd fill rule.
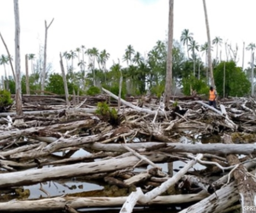
[[[203,79],[197,79],[194,76],[189,76],[182,79],[183,93],[185,95],[190,95],[190,86],[197,92],[197,94],[208,94],[209,87]]]

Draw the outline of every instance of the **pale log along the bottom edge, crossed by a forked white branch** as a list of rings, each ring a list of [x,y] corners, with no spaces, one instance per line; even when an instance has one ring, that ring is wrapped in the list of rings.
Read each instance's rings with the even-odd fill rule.
[[[155,199],[147,203],[146,206],[156,204],[178,204],[189,203],[202,200],[206,198],[207,194],[179,194],[169,196],[157,196]],[[88,208],[88,207],[119,207],[126,201],[127,196],[117,198],[109,197],[71,197],[60,196],[57,198],[45,198],[40,200],[25,200],[25,201],[12,201],[0,202],[1,212],[19,212],[19,211],[49,211],[49,210],[63,210],[67,204],[74,209]],[[145,206],[145,204],[137,203],[138,206]]]

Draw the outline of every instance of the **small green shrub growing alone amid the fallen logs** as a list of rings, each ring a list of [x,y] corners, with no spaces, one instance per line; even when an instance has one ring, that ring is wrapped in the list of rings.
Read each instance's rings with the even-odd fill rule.
[[[118,114],[115,108],[109,108],[107,102],[99,102],[97,104],[97,110],[95,111],[96,114],[99,114],[102,117],[110,122],[110,124],[115,125],[119,124]]]

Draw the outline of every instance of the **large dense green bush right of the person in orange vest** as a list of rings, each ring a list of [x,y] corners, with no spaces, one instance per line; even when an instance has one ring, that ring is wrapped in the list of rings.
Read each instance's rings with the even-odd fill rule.
[[[234,61],[221,62],[214,69],[214,80],[217,92],[220,96],[223,94],[225,65],[225,96],[243,96],[250,92],[250,81],[246,78],[241,68],[236,67]]]

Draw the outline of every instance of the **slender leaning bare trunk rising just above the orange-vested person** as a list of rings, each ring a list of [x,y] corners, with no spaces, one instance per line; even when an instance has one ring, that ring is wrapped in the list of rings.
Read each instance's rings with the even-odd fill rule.
[[[209,27],[209,21],[208,21],[208,16],[207,16],[207,9],[206,9],[205,0],[203,0],[203,5],[204,5],[204,16],[205,16],[205,24],[206,24],[206,31],[207,31],[207,39],[208,39],[208,67],[209,67],[209,70],[210,70],[211,85],[215,88],[214,77],[213,77],[213,69],[212,69],[210,27]]]

